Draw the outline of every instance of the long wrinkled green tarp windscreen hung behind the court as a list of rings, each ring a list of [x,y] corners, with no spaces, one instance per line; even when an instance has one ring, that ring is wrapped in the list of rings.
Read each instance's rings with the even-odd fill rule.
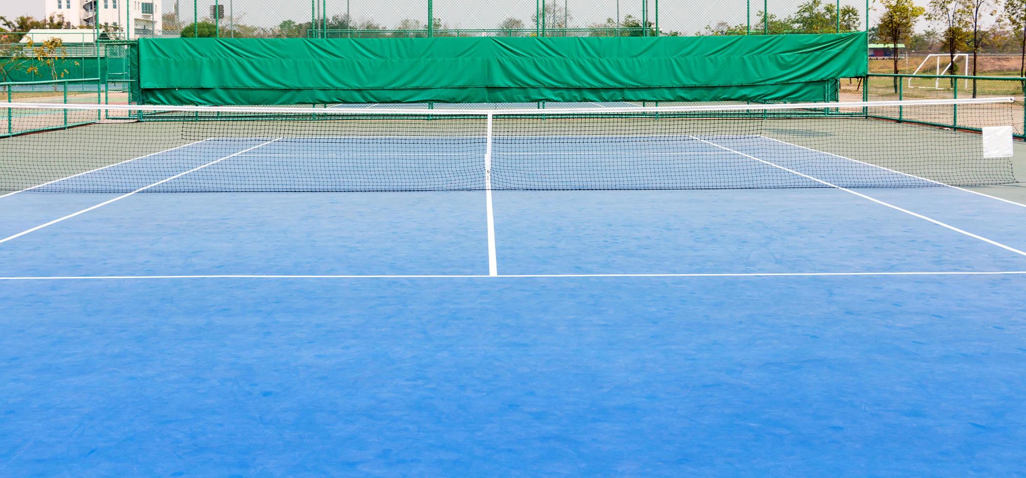
[[[148,104],[830,101],[866,33],[140,40]]]

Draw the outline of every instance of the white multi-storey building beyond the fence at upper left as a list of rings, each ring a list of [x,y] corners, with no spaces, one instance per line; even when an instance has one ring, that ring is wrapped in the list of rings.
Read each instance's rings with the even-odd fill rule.
[[[160,0],[43,0],[46,16],[62,15],[69,28],[92,27],[100,16],[101,30],[121,34],[122,38],[161,34]]]

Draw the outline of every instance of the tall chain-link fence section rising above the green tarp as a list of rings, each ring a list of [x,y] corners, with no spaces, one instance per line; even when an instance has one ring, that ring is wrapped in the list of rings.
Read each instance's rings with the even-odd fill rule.
[[[859,0],[177,0],[163,36],[689,36],[866,30]],[[156,34],[156,33],[155,33]]]

